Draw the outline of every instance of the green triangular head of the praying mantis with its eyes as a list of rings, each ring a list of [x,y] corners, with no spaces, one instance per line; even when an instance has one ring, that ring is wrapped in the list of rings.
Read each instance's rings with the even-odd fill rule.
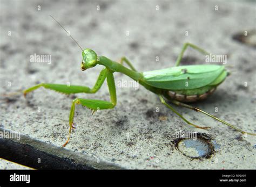
[[[84,49],[83,53],[83,61],[81,64],[82,71],[93,68],[97,65],[97,54],[91,49]]]

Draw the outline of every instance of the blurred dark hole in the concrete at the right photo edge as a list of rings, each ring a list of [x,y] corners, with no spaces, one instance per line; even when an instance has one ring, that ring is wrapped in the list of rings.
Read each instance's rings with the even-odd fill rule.
[[[256,48],[256,30],[237,33],[232,38],[242,44]]]

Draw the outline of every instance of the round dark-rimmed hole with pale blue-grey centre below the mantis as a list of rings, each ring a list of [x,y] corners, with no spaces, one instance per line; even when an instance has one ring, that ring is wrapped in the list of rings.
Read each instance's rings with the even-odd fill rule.
[[[174,143],[181,154],[192,159],[209,159],[215,152],[214,148],[219,148],[207,135],[198,133],[194,138],[178,138]]]

